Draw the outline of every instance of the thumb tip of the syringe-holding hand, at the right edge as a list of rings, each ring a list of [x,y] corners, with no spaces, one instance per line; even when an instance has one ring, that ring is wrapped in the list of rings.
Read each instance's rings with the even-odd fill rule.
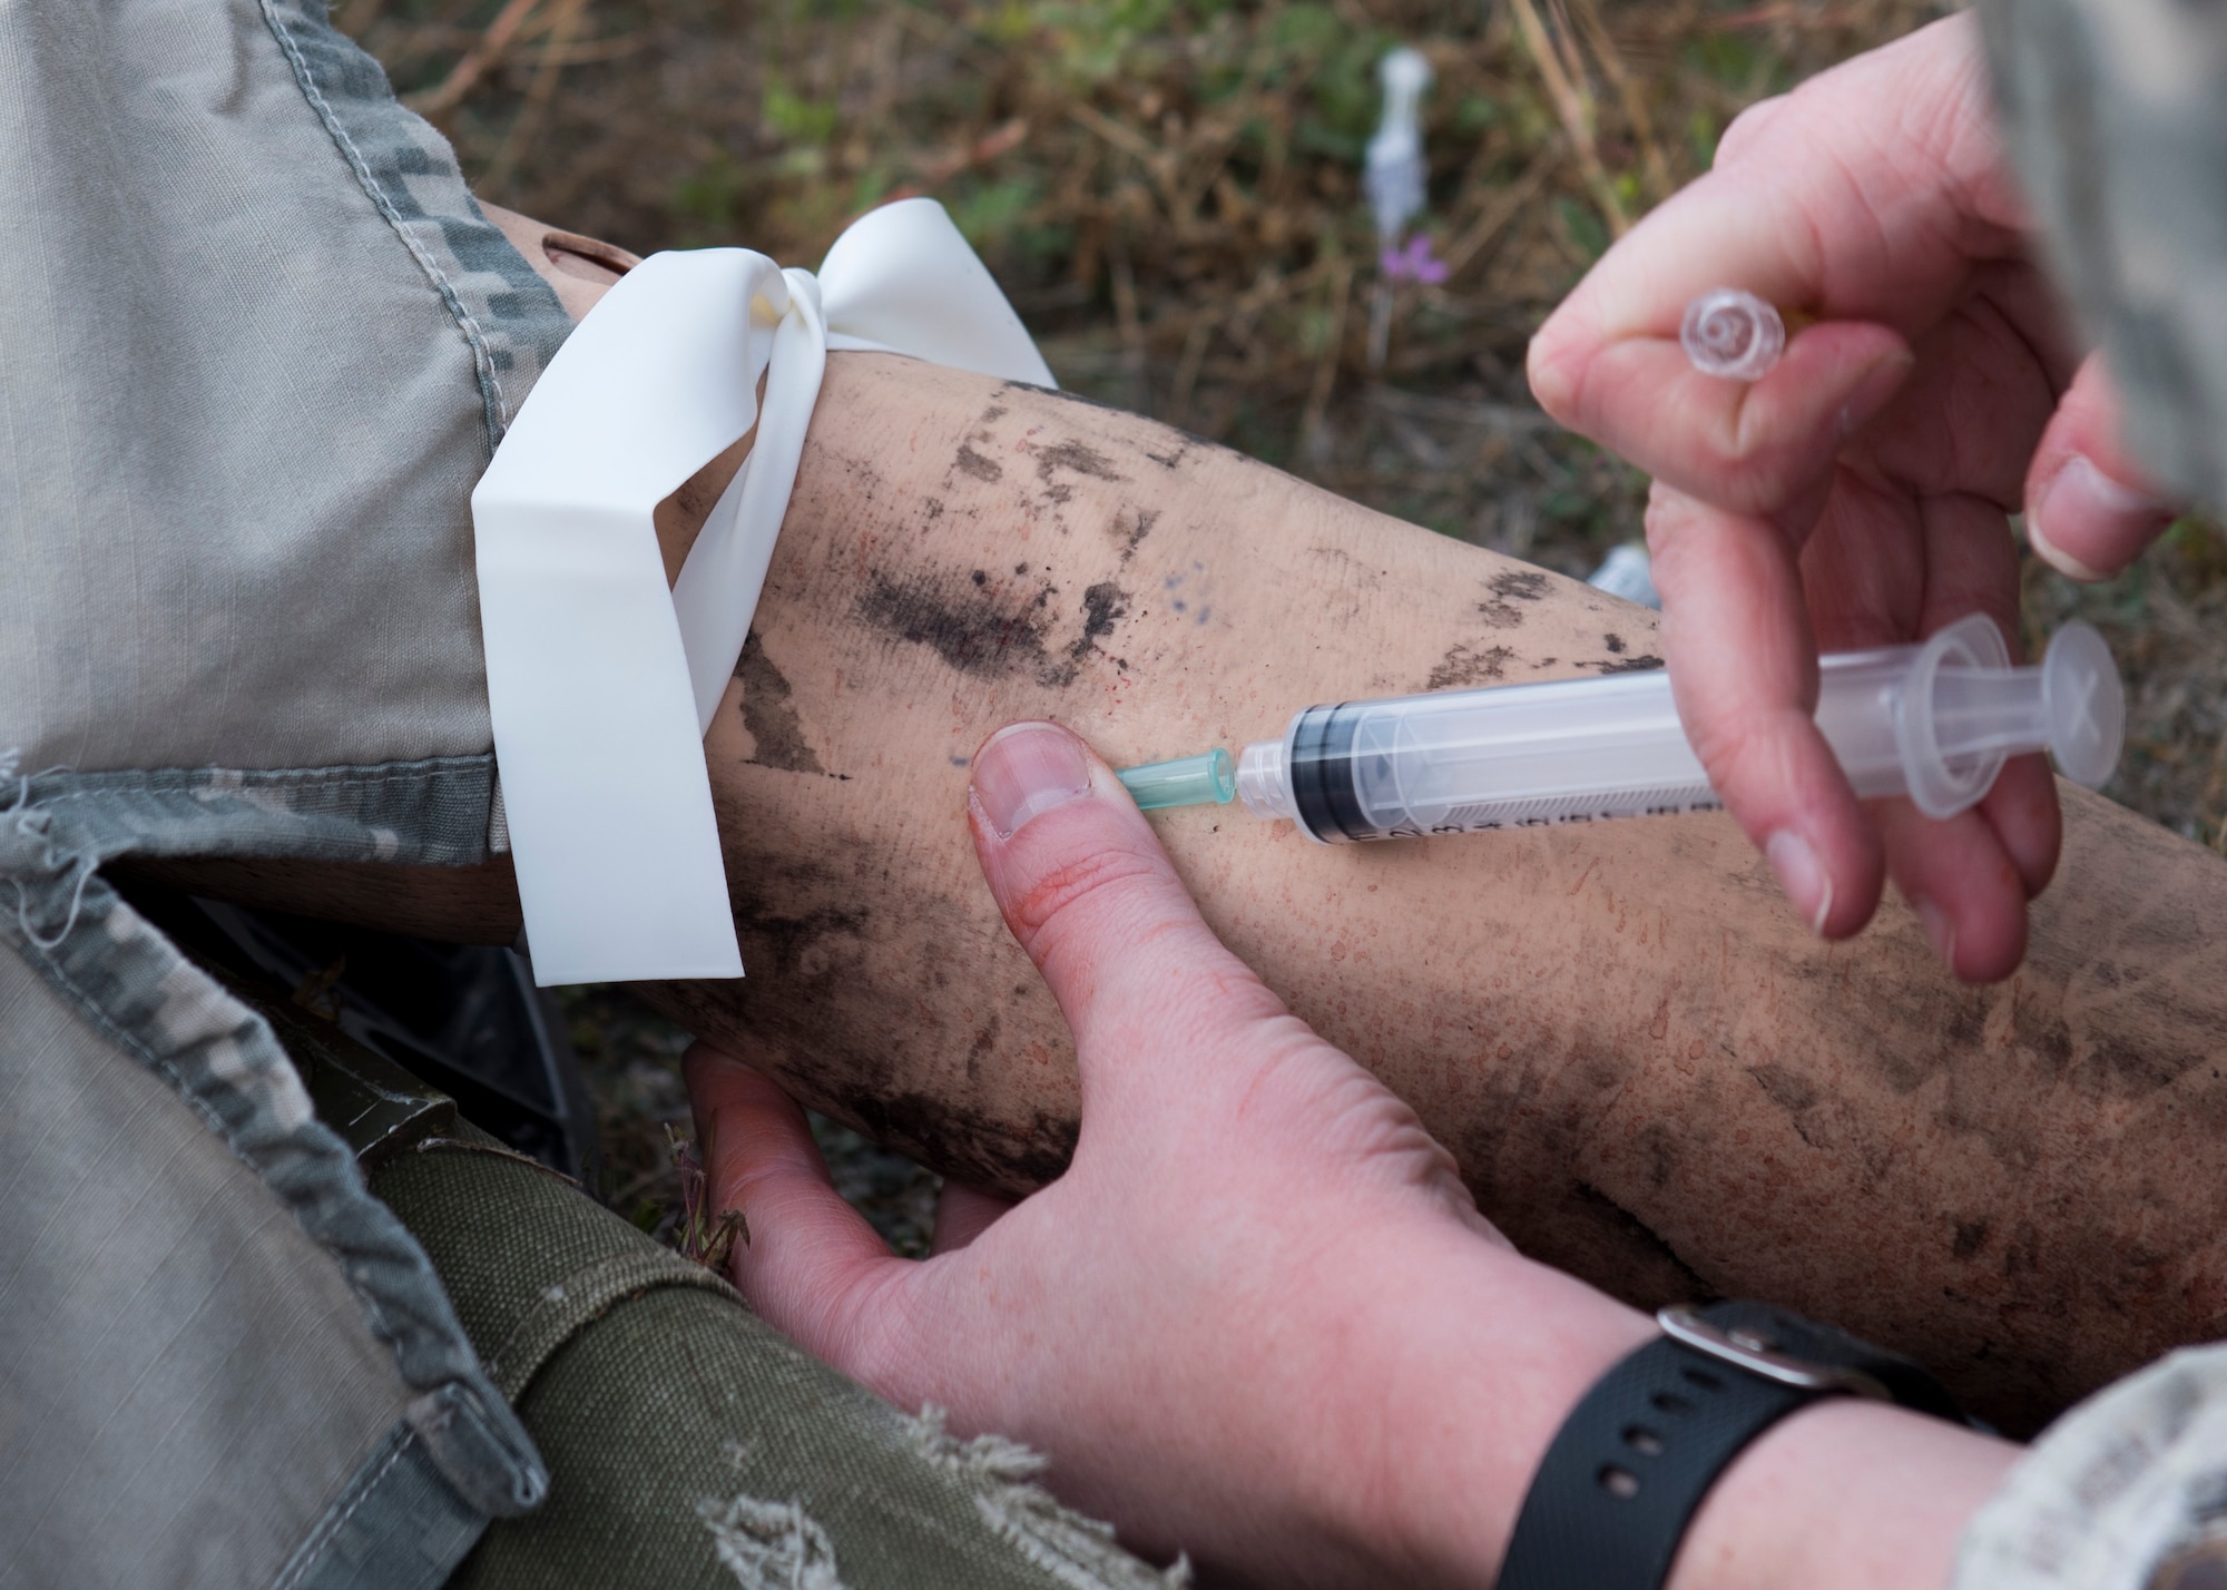
[[[2071,579],[2111,579],[2174,521],[2118,445],[2118,392],[2089,354],[2027,472],[2027,539]]]

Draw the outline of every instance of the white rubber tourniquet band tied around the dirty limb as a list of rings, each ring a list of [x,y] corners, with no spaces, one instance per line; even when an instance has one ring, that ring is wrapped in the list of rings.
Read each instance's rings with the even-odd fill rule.
[[[831,347],[1053,385],[944,207],[906,198],[844,232],[817,278],[750,249],[637,265],[550,361],[472,492],[488,710],[541,984],[742,975],[704,728],[750,632]],[[668,592],[650,510],[753,423]]]

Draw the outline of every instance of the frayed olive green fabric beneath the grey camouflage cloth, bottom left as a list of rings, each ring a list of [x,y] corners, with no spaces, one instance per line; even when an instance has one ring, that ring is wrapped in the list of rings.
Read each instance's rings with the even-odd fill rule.
[[[372,1189],[432,1254],[532,1432],[550,1496],[459,1590],[1142,1590],[1183,1583],[1029,1483],[806,1356],[708,1269],[459,1127]]]

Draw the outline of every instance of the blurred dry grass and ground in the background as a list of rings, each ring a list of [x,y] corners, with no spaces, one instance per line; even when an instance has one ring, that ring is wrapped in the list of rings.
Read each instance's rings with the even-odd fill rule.
[[[336,18],[503,205],[637,252],[817,263],[931,194],[1062,385],[1372,508],[1581,575],[1646,483],[1523,387],[1543,314],[1708,167],[1744,107],[1949,7],[1933,0],[339,0]],[[1370,359],[1358,187],[1376,60],[1421,49],[1450,265],[1399,287]],[[2129,673],[2109,793],[2227,848],[2227,541],[2187,521],[2127,577],[2027,561],[2029,641],[2087,617]],[[628,1207],[675,1203],[679,1038],[572,995]],[[933,1178],[826,1127],[837,1176],[918,1247]]]

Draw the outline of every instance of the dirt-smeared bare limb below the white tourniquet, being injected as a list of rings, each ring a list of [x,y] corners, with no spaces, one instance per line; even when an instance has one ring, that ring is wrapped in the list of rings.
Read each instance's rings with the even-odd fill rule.
[[[1149,537],[1107,534],[1140,512]],[[982,735],[1058,717],[1120,766],[1448,668],[1657,650],[1648,612],[1162,425],[862,354],[828,363],[757,630],[822,773],[766,766],[737,684],[708,755],[750,975],[659,1000],[1009,1189],[1058,1171],[1076,1082],[975,873]],[[2107,802],[2069,791],[1993,989],[1900,906],[1811,940],[1721,817],[1341,848],[1236,808],[1158,826],[1207,920],[1541,1258],[1835,1318],[2011,1430],[2220,1334],[2227,868]]]

